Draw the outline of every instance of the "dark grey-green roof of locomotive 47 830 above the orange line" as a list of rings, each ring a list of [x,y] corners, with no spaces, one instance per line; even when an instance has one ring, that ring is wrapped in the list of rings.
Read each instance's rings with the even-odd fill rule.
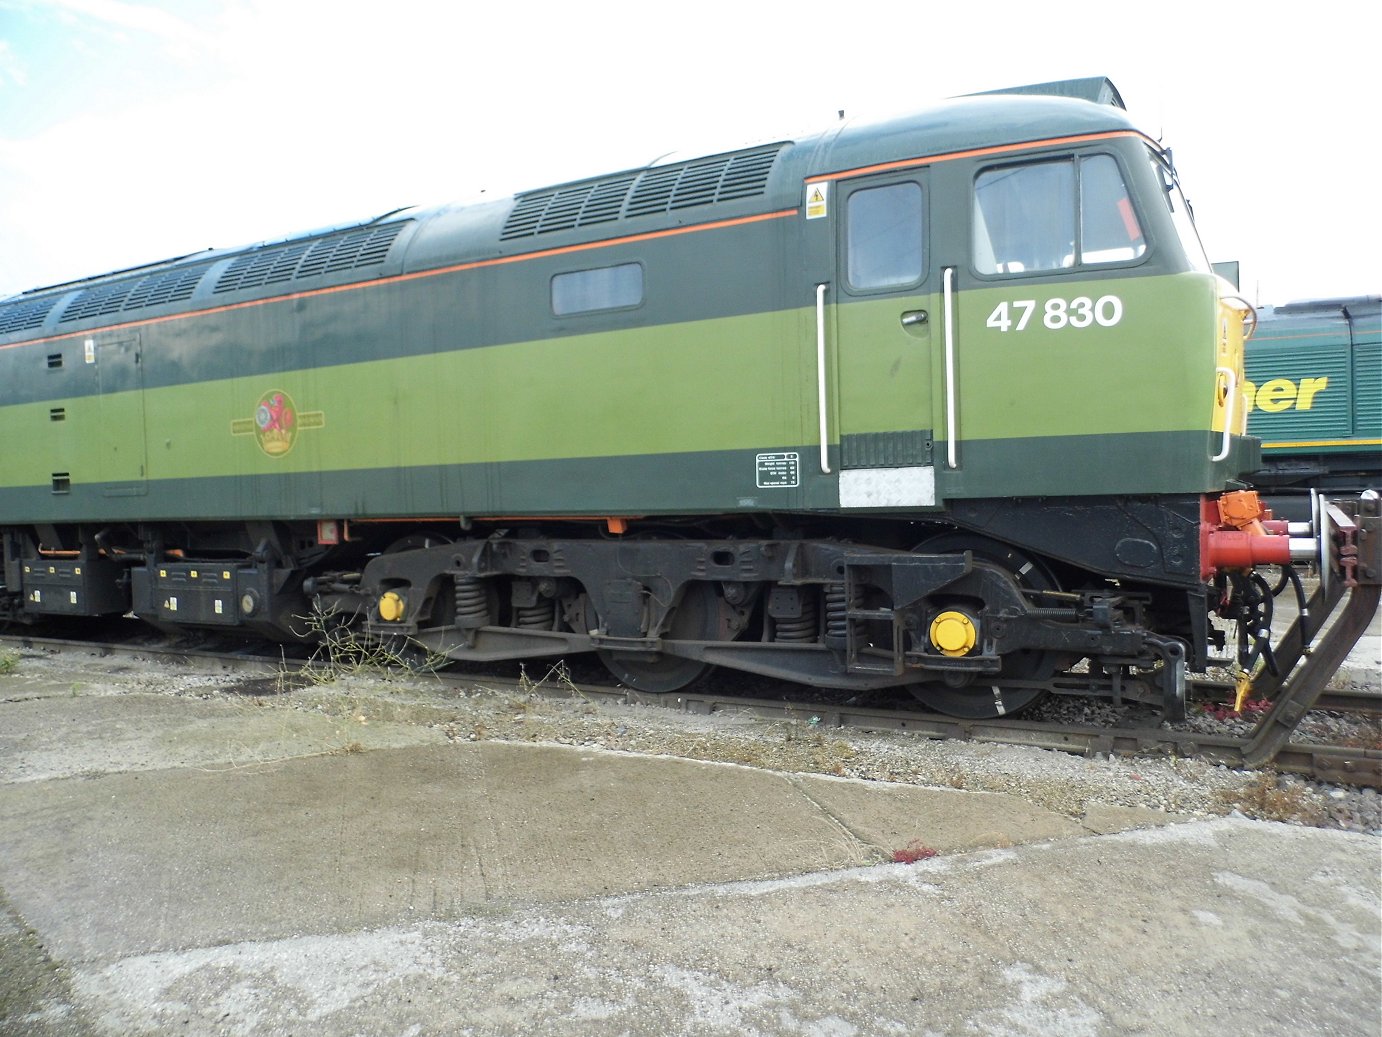
[[[647,166],[493,200],[394,210],[355,224],[39,288],[0,300],[0,336],[65,332],[69,329],[57,325],[76,322],[70,328],[75,332],[90,326],[90,321],[111,324],[152,317],[133,312],[151,307],[169,312],[220,304],[247,293],[272,297],[521,254],[572,241],[795,209],[802,203],[802,184],[810,178],[843,176],[889,162],[1121,130],[1136,126],[1107,80],[959,97],[883,119],[840,119],[792,141],[695,159],[662,158]],[[401,247],[394,247],[395,239]],[[206,277],[213,270],[214,277]]]

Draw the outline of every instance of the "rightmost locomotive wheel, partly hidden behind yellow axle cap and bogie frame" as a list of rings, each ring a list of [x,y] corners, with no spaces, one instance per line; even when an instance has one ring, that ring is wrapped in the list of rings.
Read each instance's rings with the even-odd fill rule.
[[[947,532],[926,541],[919,548],[926,553],[973,552],[974,557],[999,566],[1017,585],[1027,590],[1059,590],[1054,577],[1035,559],[1030,559],[1016,548],[963,532]],[[941,680],[925,684],[908,684],[912,697],[929,709],[965,720],[990,720],[995,716],[1010,716],[1027,709],[1046,697],[1039,687],[1014,687],[1003,683],[1032,680],[1049,676],[1054,658],[1046,651],[1016,651],[1003,658],[1003,668],[996,675],[977,675],[973,682],[952,686]]]

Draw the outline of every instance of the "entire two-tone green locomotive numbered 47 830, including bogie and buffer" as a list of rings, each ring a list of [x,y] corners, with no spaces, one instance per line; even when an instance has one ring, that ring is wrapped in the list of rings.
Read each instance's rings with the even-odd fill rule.
[[[1175,712],[1317,545],[1168,152],[1024,93],[0,303],[0,614]]]

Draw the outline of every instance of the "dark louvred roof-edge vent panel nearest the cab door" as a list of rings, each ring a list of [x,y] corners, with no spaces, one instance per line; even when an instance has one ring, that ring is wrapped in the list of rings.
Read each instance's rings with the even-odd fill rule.
[[[774,144],[524,195],[514,203],[499,238],[531,238],[621,217],[753,198],[767,191],[768,174],[784,147]]]

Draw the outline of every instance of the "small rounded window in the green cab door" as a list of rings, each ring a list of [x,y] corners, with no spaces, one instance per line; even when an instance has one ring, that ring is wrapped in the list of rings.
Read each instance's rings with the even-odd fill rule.
[[[846,209],[846,275],[855,290],[919,285],[922,185],[904,181],[855,191]]]

